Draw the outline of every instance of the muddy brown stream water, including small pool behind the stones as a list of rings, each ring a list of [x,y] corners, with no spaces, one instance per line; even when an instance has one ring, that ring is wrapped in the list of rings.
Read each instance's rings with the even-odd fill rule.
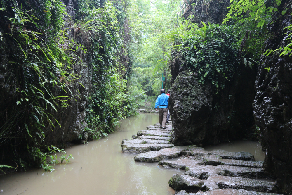
[[[157,163],[135,162],[135,154],[121,152],[122,139],[158,122],[157,114],[143,113],[121,121],[107,138],[84,145],[67,146],[74,160],[55,165],[55,171],[32,169],[0,177],[0,194],[174,194],[168,186],[173,174],[185,171],[162,168]],[[258,142],[207,146],[206,150],[248,151],[263,161]],[[176,160],[176,159],[173,159]]]

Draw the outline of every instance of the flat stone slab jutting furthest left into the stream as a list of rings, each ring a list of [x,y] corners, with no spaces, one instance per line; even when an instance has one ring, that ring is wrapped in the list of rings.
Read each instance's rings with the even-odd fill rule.
[[[132,140],[136,140],[136,139],[132,139]],[[173,147],[172,144],[132,144],[132,143],[126,143],[126,142],[121,144],[121,146],[122,146],[123,153],[135,153],[135,154],[149,152],[149,151],[158,151],[163,148]]]

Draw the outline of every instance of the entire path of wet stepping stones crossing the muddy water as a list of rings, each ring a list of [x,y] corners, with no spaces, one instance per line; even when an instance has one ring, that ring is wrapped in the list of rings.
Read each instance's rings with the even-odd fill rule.
[[[173,175],[168,184],[176,194],[271,194],[278,189],[274,182],[258,180],[265,175],[263,161],[255,161],[248,152],[206,151],[193,146],[173,146],[171,121],[166,129],[159,123],[140,130],[132,140],[123,139],[122,151],[136,153],[138,162],[157,163],[164,168],[185,170],[184,175]],[[169,161],[170,158],[178,158]]]

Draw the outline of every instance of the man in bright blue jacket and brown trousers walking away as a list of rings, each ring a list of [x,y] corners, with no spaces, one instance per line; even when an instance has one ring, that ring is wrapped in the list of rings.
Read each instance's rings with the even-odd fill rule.
[[[166,124],[166,117],[167,117],[167,110],[168,110],[168,99],[169,96],[165,94],[165,89],[160,90],[160,94],[155,102],[155,108],[159,106],[159,124],[160,128],[165,129]]]

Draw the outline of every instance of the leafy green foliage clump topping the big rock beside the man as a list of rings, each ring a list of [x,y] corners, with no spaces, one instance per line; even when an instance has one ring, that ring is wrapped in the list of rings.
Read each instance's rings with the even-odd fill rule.
[[[231,26],[203,25],[177,37],[181,39],[177,51],[185,57],[184,66],[196,72],[199,83],[209,80],[223,89],[240,64],[238,39]]]

